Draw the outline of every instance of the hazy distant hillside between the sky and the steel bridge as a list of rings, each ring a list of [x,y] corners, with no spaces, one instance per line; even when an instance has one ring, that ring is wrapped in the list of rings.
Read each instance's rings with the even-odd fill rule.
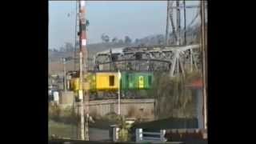
[[[196,25],[187,29],[186,30],[187,44],[190,44],[191,42],[199,42],[199,34],[200,34],[199,32],[200,32],[199,25]],[[170,34],[170,38],[171,37],[172,37],[172,34]],[[183,30],[182,30],[181,37],[184,38]],[[164,44],[164,42],[165,42],[164,34],[154,34],[154,35],[149,35],[145,38],[137,38],[134,40],[134,42],[130,44],[125,42],[101,42],[101,43],[88,44],[87,49],[89,53],[89,59],[92,60],[92,58],[96,53],[103,50],[109,50],[110,48],[142,46],[142,45],[156,46],[156,45],[162,45]],[[54,74],[62,72],[63,66],[60,60],[61,58],[67,58],[67,57],[72,57],[72,58],[74,57],[74,48],[73,50],[68,50],[68,51],[49,50],[50,70]],[[76,57],[78,58],[78,54]],[[76,67],[78,68],[78,65]],[[74,70],[73,60],[66,63],[66,70]]]

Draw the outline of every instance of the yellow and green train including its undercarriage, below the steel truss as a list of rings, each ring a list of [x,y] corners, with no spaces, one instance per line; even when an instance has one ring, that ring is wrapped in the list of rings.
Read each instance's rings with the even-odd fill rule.
[[[120,75],[121,74],[121,75]],[[145,94],[146,90],[152,88],[154,74],[150,72],[89,72],[83,76],[83,90],[90,92],[90,99],[110,99],[121,96],[126,98],[140,98],[140,92]],[[120,78],[120,80],[119,80]],[[69,90],[78,94],[79,73],[73,72],[69,80]],[[143,96],[142,96],[143,97]]]

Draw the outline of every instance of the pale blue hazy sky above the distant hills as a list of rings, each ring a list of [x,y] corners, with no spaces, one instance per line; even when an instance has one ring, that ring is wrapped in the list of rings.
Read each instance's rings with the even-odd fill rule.
[[[75,3],[49,2],[50,49],[59,49],[65,42],[74,44]],[[186,5],[198,5],[198,1],[186,1]],[[186,9],[187,24],[196,13],[197,9]],[[88,44],[102,42],[103,33],[109,35],[110,39],[123,39],[127,35],[133,40],[152,34],[165,34],[166,1],[86,1],[86,19],[90,22]]]

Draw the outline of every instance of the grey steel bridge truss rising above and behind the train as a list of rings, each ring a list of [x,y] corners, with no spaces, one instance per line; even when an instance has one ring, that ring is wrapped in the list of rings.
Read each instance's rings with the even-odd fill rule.
[[[94,57],[95,71],[166,71],[173,77],[201,68],[199,45],[122,47]]]

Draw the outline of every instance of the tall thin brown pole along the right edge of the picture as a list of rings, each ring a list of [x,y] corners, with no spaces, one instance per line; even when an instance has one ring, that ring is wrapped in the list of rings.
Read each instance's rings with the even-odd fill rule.
[[[204,115],[204,129],[207,129],[207,48],[206,48],[206,34],[205,34],[205,2],[201,1],[201,33],[202,33],[202,78],[203,78],[203,115]]]

